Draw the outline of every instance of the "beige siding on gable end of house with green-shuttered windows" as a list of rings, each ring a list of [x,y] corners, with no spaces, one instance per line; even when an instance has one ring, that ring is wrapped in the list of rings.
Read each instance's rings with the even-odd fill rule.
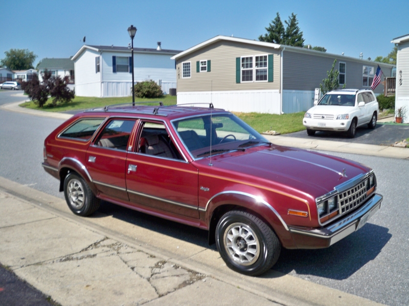
[[[236,58],[241,56],[273,54],[274,82],[236,83]],[[196,61],[210,60],[210,72],[196,72]],[[182,62],[191,62],[191,78],[182,78]],[[177,91],[234,91],[234,90],[279,90],[280,50],[253,46],[244,43],[220,41],[203,47],[177,60]]]

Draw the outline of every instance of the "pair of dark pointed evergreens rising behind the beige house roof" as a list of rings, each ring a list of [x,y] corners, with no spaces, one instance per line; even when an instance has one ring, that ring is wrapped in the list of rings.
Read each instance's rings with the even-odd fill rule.
[[[296,47],[304,46],[305,39],[303,38],[303,32],[298,26],[297,15],[291,13],[291,16],[288,16],[288,20],[284,22],[286,28],[281,21],[280,14],[277,12],[276,18],[269,23],[269,27],[265,28],[267,33],[260,35],[259,40]]]

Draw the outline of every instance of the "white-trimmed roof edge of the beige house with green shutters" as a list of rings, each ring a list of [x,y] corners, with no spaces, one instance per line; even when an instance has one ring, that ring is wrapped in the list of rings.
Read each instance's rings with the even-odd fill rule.
[[[290,52],[296,52],[296,53],[304,53],[304,54],[310,54],[310,55],[315,55],[315,56],[321,56],[321,57],[328,57],[328,58],[342,58],[345,60],[349,60],[349,61],[354,61],[354,62],[360,62],[363,64],[370,64],[370,65],[374,65],[373,61],[369,61],[369,60],[361,60],[358,58],[354,58],[354,57],[349,57],[349,56],[342,56],[339,54],[331,54],[331,53],[326,53],[326,52],[321,52],[321,51],[317,51],[317,50],[312,50],[312,49],[308,49],[308,48],[302,48],[302,47],[294,47],[294,46],[287,46],[287,45],[282,45],[282,44],[276,44],[276,43],[271,43],[271,42],[264,42],[264,41],[258,41],[258,40],[252,40],[252,39],[245,39],[245,38],[237,38],[237,37],[230,37],[230,36],[223,36],[223,35],[218,35],[216,37],[213,37],[209,40],[203,41],[202,43],[199,43],[181,53],[176,54],[175,56],[171,57],[172,60],[177,60],[181,57],[184,57],[192,52],[195,52],[196,50],[203,48],[205,46],[208,46],[210,44],[213,44],[217,41],[221,41],[221,40],[226,40],[226,41],[234,41],[234,42],[241,42],[241,43],[246,43],[246,44],[252,44],[252,45],[258,45],[258,46],[265,46],[265,47],[271,47],[274,49],[281,49],[281,50],[286,50],[286,51],[290,51]],[[386,64],[386,63],[379,63],[382,66],[388,66],[388,67],[395,67],[396,65],[392,65],[392,64]]]

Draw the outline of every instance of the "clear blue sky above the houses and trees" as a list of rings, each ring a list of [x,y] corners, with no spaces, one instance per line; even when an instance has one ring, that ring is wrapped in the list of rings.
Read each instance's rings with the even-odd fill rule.
[[[216,35],[257,39],[275,18],[297,14],[305,44],[328,53],[386,56],[393,38],[409,34],[407,0],[345,1],[14,1],[1,2],[0,59],[10,48],[42,58],[74,55],[86,44],[185,50]]]

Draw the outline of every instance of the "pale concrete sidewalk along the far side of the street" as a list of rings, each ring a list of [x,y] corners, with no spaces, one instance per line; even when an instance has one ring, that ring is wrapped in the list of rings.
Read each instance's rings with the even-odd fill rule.
[[[51,117],[51,118],[58,118],[58,119],[64,119],[64,120],[69,119],[73,116],[70,114],[52,113],[52,112],[44,112],[44,111],[26,109],[26,108],[19,107],[18,106],[19,104],[21,104],[21,102],[10,103],[10,104],[3,105],[0,108],[3,108],[8,111],[12,111],[12,112],[26,113],[26,114],[31,114],[35,116]],[[388,121],[391,121],[391,118],[385,118],[385,119],[379,120],[379,122],[381,121],[388,122]],[[323,151],[334,151],[334,152],[370,155],[370,156],[378,156],[378,157],[409,159],[409,149],[408,148],[350,143],[350,142],[343,142],[343,141],[313,140],[313,139],[303,139],[303,138],[298,138],[298,137],[287,137],[287,136],[271,136],[271,135],[263,135],[263,136],[267,138],[269,141],[271,141],[272,143],[283,145],[283,146],[291,146],[291,147],[297,147],[297,148],[303,148],[303,149],[315,149],[315,150],[323,150]]]

